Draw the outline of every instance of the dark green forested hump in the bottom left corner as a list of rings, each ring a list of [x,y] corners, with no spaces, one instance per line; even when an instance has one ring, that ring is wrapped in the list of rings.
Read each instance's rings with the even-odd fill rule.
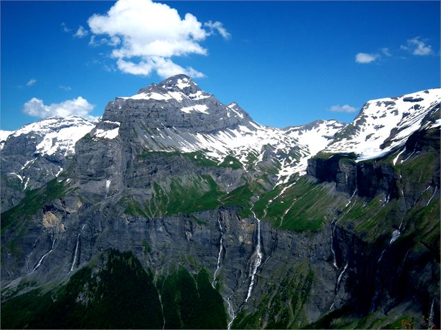
[[[97,273],[78,270],[67,284],[36,289],[1,305],[3,329],[161,329],[153,276],[131,252],[107,250]],[[93,275],[94,274],[94,275]]]

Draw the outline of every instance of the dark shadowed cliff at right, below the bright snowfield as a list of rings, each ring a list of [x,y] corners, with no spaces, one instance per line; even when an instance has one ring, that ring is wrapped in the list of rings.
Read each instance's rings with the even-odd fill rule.
[[[351,313],[388,313],[412,300],[428,318],[440,304],[439,130],[415,132],[401,152],[383,159],[356,163],[339,156],[310,159],[308,174],[363,202],[350,201],[333,224],[336,265],[348,265],[349,295],[364,297]],[[383,224],[374,223],[380,219]],[[439,323],[439,313],[433,318]]]

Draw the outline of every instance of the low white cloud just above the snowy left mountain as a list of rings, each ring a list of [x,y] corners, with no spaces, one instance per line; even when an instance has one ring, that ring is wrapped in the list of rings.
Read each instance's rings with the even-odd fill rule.
[[[90,112],[94,109],[94,105],[88,103],[85,98],[78,96],[73,100],[63,101],[61,103],[52,103],[44,105],[43,101],[38,98],[31,98],[24,103],[23,112],[29,116],[39,118],[47,118],[51,116],[81,116],[85,119],[93,119]]]

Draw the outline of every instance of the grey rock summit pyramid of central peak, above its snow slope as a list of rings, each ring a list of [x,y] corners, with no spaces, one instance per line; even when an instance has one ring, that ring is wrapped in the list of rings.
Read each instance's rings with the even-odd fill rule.
[[[215,96],[201,91],[187,76],[178,75],[140,89],[130,98],[116,98],[106,106],[103,121],[132,122],[152,130],[174,127],[203,134],[234,129],[246,125],[251,118],[239,107],[223,105]]]

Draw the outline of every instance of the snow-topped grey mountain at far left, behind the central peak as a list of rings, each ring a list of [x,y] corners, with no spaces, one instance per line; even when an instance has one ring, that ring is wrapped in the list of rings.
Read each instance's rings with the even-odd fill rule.
[[[1,142],[1,209],[18,204],[25,191],[39,188],[69,163],[78,139],[94,128],[78,116],[51,117],[8,132]]]

